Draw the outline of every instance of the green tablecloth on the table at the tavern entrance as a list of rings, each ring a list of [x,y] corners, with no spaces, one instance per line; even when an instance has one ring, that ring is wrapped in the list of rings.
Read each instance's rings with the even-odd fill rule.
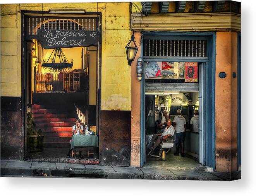
[[[70,149],[74,147],[99,147],[97,135],[73,135]]]

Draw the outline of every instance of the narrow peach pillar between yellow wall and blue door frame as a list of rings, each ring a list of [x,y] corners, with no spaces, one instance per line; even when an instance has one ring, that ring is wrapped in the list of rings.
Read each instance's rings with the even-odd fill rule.
[[[141,34],[135,33],[138,47],[137,55],[131,66],[131,167],[140,167],[141,139],[141,83],[137,80],[137,59],[141,56]]]

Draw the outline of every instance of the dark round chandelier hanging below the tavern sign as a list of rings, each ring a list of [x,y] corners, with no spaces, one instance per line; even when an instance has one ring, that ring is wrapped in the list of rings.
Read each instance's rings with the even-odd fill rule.
[[[53,56],[52,56],[53,55]],[[59,62],[55,62],[59,60]],[[52,61],[52,62],[51,62]],[[64,55],[61,48],[53,49],[50,57],[47,61],[43,60],[42,67],[46,70],[47,68],[50,72],[65,72],[67,69],[70,71],[73,66],[73,59],[69,61]]]

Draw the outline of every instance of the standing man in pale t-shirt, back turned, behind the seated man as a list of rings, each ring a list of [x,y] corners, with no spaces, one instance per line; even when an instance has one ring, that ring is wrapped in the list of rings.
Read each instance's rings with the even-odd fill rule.
[[[174,128],[176,131],[176,152],[174,155],[179,156],[179,147],[181,145],[181,156],[185,157],[184,155],[184,140],[185,140],[185,130],[186,130],[186,119],[181,116],[181,110],[177,110],[177,116],[174,117]]]

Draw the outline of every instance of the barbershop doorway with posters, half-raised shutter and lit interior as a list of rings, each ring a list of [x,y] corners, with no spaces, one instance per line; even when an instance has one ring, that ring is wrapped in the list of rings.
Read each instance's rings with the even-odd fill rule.
[[[165,166],[176,169],[203,167],[205,165],[205,63],[145,61],[144,65],[146,74],[144,75],[143,167]],[[161,74],[152,77],[150,69],[156,65],[160,68]],[[188,75],[188,69],[192,70],[193,76]],[[177,128],[180,124],[174,124],[179,116],[184,119],[183,130]],[[171,126],[176,125],[174,135],[169,135],[167,139],[169,143],[173,143],[173,147],[161,148],[160,143],[152,152],[152,136],[163,134],[167,126],[167,124],[163,125],[163,118],[171,119]],[[181,122],[177,121],[177,123]],[[183,142],[180,141],[184,145],[184,155],[181,144],[179,150],[176,148],[178,147],[177,131],[185,133]]]

